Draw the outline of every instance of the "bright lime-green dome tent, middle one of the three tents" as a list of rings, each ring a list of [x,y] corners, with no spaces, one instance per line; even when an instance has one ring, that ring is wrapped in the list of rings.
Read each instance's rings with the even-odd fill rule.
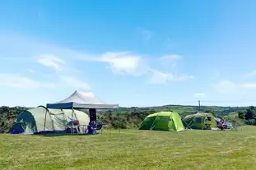
[[[184,126],[178,113],[160,112],[148,115],[138,129],[155,131],[184,131]]]

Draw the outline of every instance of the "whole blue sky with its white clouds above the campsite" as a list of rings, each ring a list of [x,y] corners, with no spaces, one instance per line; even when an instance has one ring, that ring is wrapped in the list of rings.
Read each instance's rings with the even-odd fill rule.
[[[0,105],[256,103],[256,2],[1,1]]]

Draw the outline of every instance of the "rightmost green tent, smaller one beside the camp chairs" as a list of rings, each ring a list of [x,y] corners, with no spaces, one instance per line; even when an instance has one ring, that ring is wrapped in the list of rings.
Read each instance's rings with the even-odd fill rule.
[[[216,128],[216,121],[212,113],[196,113],[184,117],[184,126],[189,129],[210,130]]]

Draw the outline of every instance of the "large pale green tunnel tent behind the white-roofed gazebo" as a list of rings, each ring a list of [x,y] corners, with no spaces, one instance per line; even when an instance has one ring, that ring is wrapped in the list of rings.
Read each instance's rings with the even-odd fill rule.
[[[80,126],[87,126],[90,118],[86,113],[72,109],[47,109],[44,106],[21,111],[10,133],[34,134],[41,131],[64,132],[71,127],[70,122],[78,121]]]

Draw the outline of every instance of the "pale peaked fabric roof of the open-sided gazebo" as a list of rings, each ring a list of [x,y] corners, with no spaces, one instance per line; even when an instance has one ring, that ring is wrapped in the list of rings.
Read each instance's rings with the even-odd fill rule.
[[[113,109],[119,108],[119,104],[106,103],[100,100],[92,92],[75,91],[67,99],[57,103],[47,103],[47,108],[100,108]]]

